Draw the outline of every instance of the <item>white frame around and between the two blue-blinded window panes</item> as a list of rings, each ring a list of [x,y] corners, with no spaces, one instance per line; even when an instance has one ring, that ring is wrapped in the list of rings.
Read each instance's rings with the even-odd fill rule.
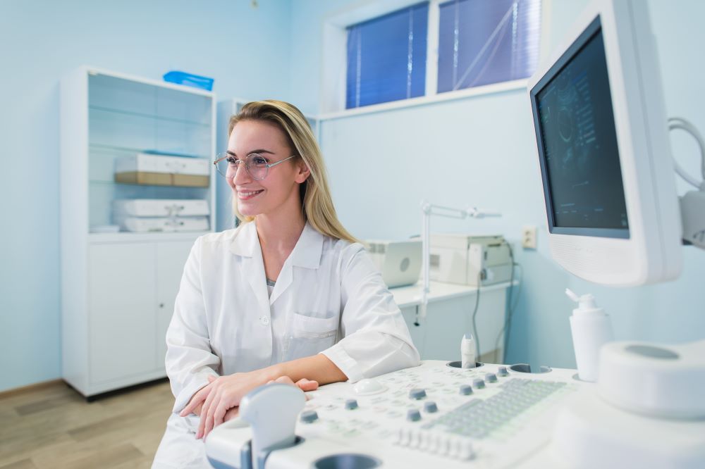
[[[422,106],[440,101],[465,99],[470,96],[482,96],[501,93],[514,89],[523,89],[527,79],[498,82],[491,85],[438,92],[438,49],[440,27],[440,4],[448,0],[429,0],[426,51],[426,84],[424,96],[370,104],[359,108],[345,108],[345,87],[347,67],[348,27],[372,20],[419,3],[419,0],[386,0],[384,2],[367,0],[364,4],[356,3],[348,8],[326,15],[323,22],[321,54],[321,87],[319,95],[319,120],[330,120],[352,115],[388,111],[391,109]],[[553,0],[541,0],[541,37],[539,39],[539,62],[548,56],[550,44],[548,27],[551,3]]]

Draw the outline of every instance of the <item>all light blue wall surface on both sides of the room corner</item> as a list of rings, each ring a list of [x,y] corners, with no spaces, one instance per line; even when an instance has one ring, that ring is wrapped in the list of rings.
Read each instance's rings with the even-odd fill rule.
[[[556,44],[586,0],[553,0]],[[0,391],[61,374],[59,334],[59,79],[90,64],[159,79],[183,69],[216,78],[221,98],[288,99],[319,107],[321,24],[350,0],[39,1],[0,6]],[[699,0],[651,0],[666,104],[705,130],[697,60],[705,33]],[[501,220],[433,221],[434,230],[500,231],[516,241],[537,225],[539,249],[517,250],[525,282],[511,332],[510,361],[571,366],[563,289],[596,294],[618,338],[681,342],[702,337],[705,252],[684,249],[676,282],[628,290],[595,287],[548,255],[532,128],[522,92],[389,111],[322,125],[324,154],[341,219],[359,237],[419,231],[418,201],[475,204]],[[675,148],[697,170],[684,136]],[[439,158],[452,168],[433,170]],[[221,204],[223,206],[223,204]]]

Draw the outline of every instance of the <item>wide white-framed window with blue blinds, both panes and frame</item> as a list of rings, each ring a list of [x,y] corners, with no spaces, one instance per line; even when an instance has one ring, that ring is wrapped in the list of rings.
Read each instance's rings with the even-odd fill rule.
[[[541,0],[413,2],[367,0],[326,20],[321,111],[512,82],[534,73]]]

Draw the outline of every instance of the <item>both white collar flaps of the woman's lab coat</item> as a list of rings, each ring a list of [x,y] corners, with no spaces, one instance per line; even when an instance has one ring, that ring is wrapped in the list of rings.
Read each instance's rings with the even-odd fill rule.
[[[323,242],[324,235],[314,230],[307,222],[289,256],[290,265],[309,269],[318,268],[321,265]],[[245,225],[240,227],[235,239],[233,239],[230,250],[236,256],[250,258],[262,256],[262,247],[259,245],[257,226],[254,221],[245,223]]]

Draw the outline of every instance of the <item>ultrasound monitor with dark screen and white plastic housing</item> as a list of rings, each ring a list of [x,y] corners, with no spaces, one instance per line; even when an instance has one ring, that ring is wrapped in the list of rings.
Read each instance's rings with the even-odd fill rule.
[[[680,213],[646,6],[594,1],[529,79],[551,255],[631,286],[680,273]]]

